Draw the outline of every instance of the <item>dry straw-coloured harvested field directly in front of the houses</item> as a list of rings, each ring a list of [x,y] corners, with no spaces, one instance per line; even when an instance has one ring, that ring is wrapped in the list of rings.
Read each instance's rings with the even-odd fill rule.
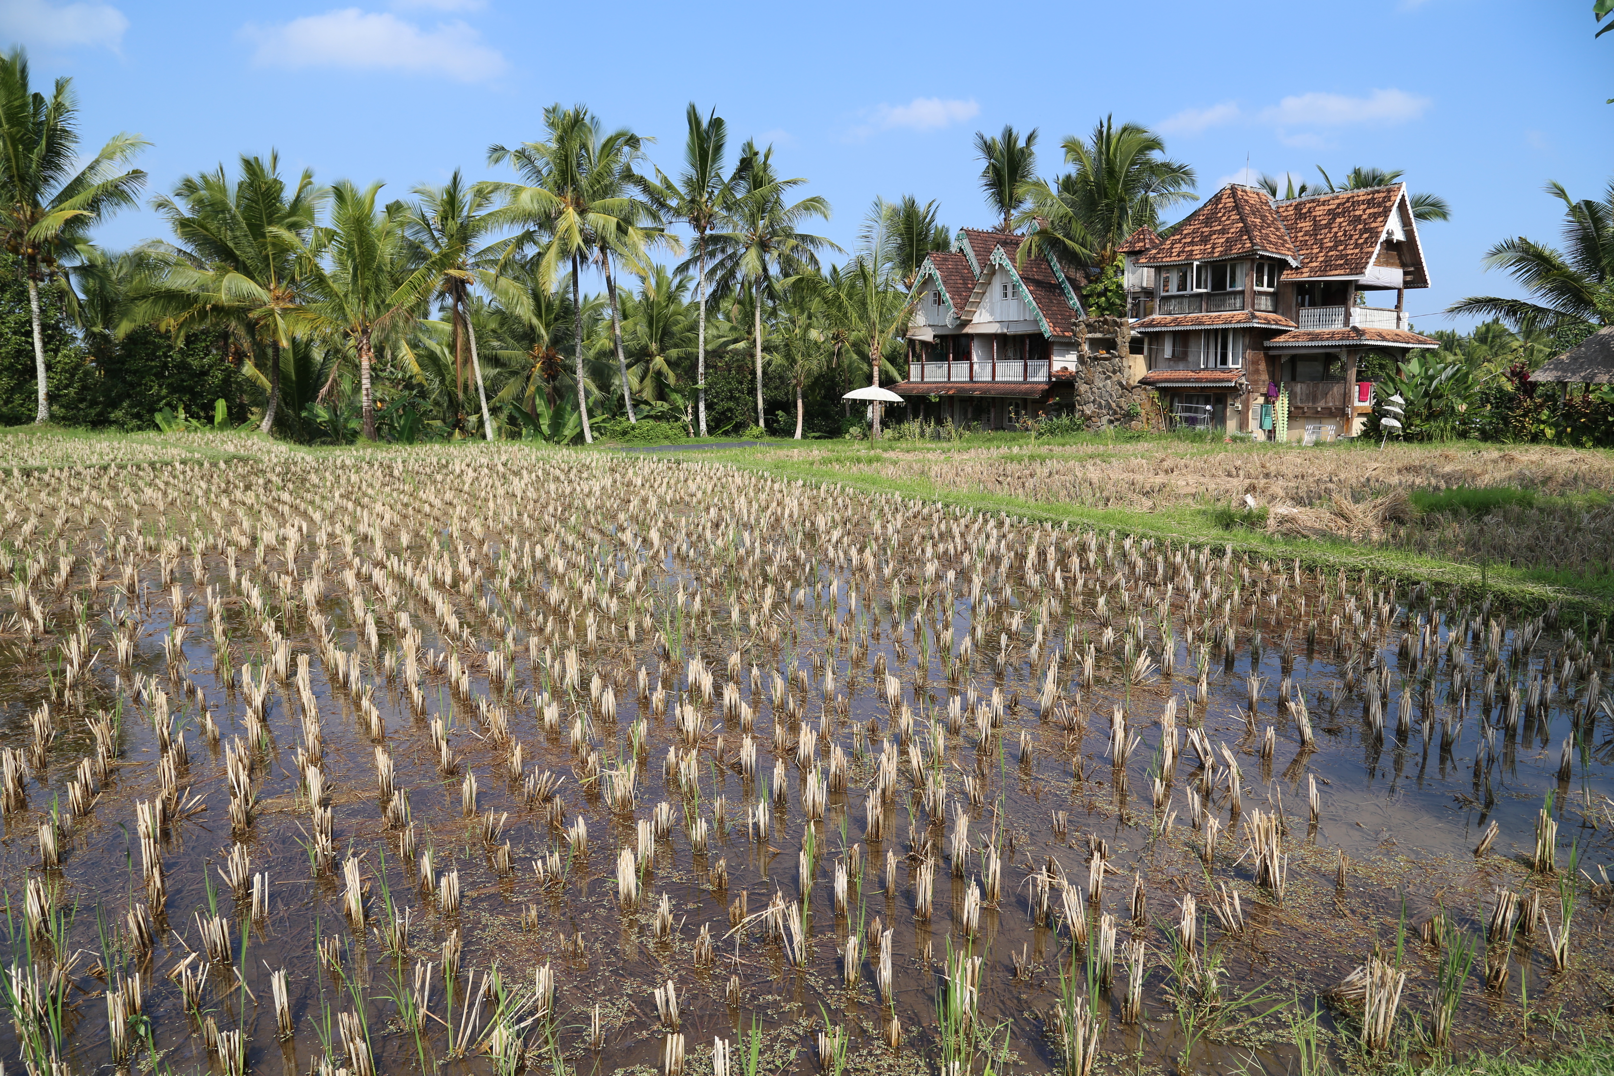
[[[1149,439],[878,452],[823,447],[776,455],[847,478],[920,482],[941,494],[1131,513],[1254,505],[1252,526],[1277,537],[1361,542],[1595,579],[1614,569],[1614,453],[1601,450],[1354,442],[1298,448]],[[1454,497],[1459,490],[1490,495]]]

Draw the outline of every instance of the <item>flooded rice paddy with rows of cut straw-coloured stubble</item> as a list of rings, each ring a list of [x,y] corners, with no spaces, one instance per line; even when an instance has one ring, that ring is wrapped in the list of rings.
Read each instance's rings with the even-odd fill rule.
[[[1596,624],[705,458],[152,444],[0,460],[8,1068],[1609,1029]]]

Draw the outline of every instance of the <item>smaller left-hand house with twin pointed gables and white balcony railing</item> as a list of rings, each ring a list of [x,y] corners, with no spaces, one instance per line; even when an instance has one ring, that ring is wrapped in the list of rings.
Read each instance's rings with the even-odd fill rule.
[[[1081,310],[1085,274],[1046,255],[1020,260],[1023,242],[965,227],[920,266],[909,376],[888,386],[912,418],[1004,429],[1028,413],[1083,411],[1078,371],[1094,358],[1119,366],[1115,326]]]

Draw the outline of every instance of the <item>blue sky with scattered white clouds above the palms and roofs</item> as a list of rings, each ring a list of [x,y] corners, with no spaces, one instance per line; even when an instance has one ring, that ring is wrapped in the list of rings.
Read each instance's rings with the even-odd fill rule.
[[[134,131],[150,190],[281,152],[321,181],[383,179],[405,195],[471,177],[492,142],[541,134],[552,102],[657,139],[671,171],[691,100],[733,147],[776,147],[786,174],[834,206],[820,231],[851,247],[875,195],[915,194],[952,227],[991,221],[975,131],[1038,127],[1044,174],[1096,119],[1148,124],[1209,195],[1246,173],[1336,177],[1404,168],[1445,195],[1424,227],[1433,287],[1407,297],[1424,329],[1469,294],[1511,294],[1488,245],[1554,240],[1548,179],[1598,197],[1614,176],[1614,35],[1591,0],[1483,3],[812,5],[515,0],[0,0],[0,42],[44,84],[73,76],[89,140]],[[100,234],[160,234],[150,211]]]

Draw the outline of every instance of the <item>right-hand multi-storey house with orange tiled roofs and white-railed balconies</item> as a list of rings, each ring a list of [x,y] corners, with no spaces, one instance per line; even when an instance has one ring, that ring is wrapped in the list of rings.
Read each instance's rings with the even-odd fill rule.
[[[1407,289],[1428,287],[1404,184],[1290,200],[1227,186],[1169,239],[1139,231],[1122,253],[1141,384],[1185,424],[1351,437],[1372,410],[1357,361],[1438,347],[1404,313]]]

